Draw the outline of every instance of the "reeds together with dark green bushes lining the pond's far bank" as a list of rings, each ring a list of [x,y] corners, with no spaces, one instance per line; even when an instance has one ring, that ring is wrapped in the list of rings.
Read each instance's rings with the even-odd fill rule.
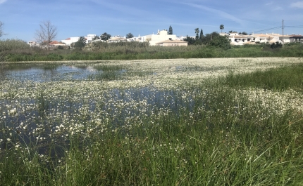
[[[173,58],[245,58],[245,57],[303,57],[302,44],[255,44],[230,46],[228,39],[217,32],[203,36],[201,40],[187,37],[190,46],[149,46],[147,42],[120,42],[108,44],[103,41],[85,46],[83,51],[44,51],[30,48],[20,40],[0,41],[0,56],[4,61],[52,61],[52,60],[140,60]]]

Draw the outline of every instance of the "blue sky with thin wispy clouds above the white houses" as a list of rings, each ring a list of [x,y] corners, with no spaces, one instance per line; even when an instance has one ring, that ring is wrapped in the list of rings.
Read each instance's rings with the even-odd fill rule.
[[[284,21],[283,21],[284,20]],[[134,36],[173,28],[177,36],[230,30],[303,34],[303,1],[298,0],[0,0],[0,39],[35,41],[39,24],[50,21],[56,41],[87,34]]]

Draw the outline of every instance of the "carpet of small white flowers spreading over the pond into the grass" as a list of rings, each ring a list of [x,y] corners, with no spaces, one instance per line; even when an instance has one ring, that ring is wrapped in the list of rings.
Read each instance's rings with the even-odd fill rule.
[[[64,171],[70,178],[75,170],[85,175],[95,168],[101,178],[111,180],[112,168],[122,170],[121,165],[130,162],[154,179],[168,179],[163,178],[168,167],[177,170],[169,179],[178,182],[190,175],[199,180],[202,169],[216,172],[220,166],[225,169],[216,174],[227,176],[230,166],[221,161],[228,161],[230,154],[229,164],[237,162],[232,161],[237,156],[245,159],[245,166],[265,164],[275,144],[266,146],[266,142],[282,135],[278,124],[300,121],[303,98],[293,89],[232,88],[216,79],[230,71],[263,71],[297,63],[302,59],[135,60],[106,62],[106,67],[86,62],[83,68],[125,68],[125,72],[113,79],[4,79],[0,144],[5,151],[0,156],[13,150],[30,167],[52,165],[51,170]],[[286,136],[297,139],[299,133],[290,130]],[[279,144],[290,145],[288,140]],[[92,167],[97,164],[100,167]]]

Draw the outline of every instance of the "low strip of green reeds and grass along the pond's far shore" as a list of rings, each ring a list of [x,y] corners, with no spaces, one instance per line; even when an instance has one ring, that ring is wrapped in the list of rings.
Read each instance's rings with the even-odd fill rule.
[[[211,46],[136,46],[135,44],[87,47],[85,51],[41,48],[10,48],[0,51],[4,61],[60,61],[60,60],[144,60],[175,58],[261,58],[302,57],[302,44],[285,44],[283,48],[271,48],[269,44],[232,46],[230,49]]]

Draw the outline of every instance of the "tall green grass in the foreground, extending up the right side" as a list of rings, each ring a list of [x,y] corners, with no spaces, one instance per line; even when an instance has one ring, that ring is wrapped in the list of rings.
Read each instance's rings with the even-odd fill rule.
[[[60,150],[49,142],[45,161],[35,143],[1,150],[0,185],[303,185],[302,112],[275,114],[241,93],[302,93],[302,70],[301,64],[207,79],[188,88],[193,107],[142,114],[130,128],[111,130],[109,119],[107,131],[70,136]]]

